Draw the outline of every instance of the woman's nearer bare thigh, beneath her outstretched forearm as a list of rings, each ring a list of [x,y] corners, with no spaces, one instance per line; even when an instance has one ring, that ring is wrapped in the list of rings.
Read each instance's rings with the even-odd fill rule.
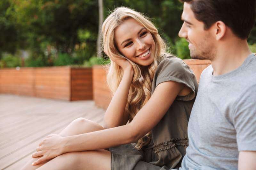
[[[54,168],[53,168],[54,167]],[[83,151],[83,152],[68,152],[64,153],[49,162],[37,170],[110,170],[111,169],[111,153],[107,150],[100,149],[95,151]]]

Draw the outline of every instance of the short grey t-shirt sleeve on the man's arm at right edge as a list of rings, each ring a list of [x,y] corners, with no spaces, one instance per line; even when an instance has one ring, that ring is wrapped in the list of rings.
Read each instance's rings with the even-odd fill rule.
[[[246,89],[233,110],[238,151],[256,151],[256,85]]]

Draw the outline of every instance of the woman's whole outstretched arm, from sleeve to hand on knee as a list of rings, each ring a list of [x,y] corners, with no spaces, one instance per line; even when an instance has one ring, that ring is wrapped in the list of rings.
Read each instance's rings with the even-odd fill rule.
[[[33,157],[44,156],[38,159],[35,165],[60,153],[96,150],[137,142],[164,117],[184,87],[184,84],[174,81],[160,83],[130,124],[64,138],[53,135],[44,139]]]

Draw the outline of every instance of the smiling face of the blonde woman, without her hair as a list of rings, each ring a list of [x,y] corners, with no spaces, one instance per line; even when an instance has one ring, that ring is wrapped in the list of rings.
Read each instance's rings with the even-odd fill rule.
[[[129,18],[116,27],[115,44],[121,54],[134,63],[148,66],[154,61],[155,41],[148,30]]]

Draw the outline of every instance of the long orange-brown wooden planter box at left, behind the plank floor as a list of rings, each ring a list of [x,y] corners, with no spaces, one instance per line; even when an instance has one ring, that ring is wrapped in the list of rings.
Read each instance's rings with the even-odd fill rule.
[[[0,69],[0,93],[52,99],[92,100],[92,68]]]

